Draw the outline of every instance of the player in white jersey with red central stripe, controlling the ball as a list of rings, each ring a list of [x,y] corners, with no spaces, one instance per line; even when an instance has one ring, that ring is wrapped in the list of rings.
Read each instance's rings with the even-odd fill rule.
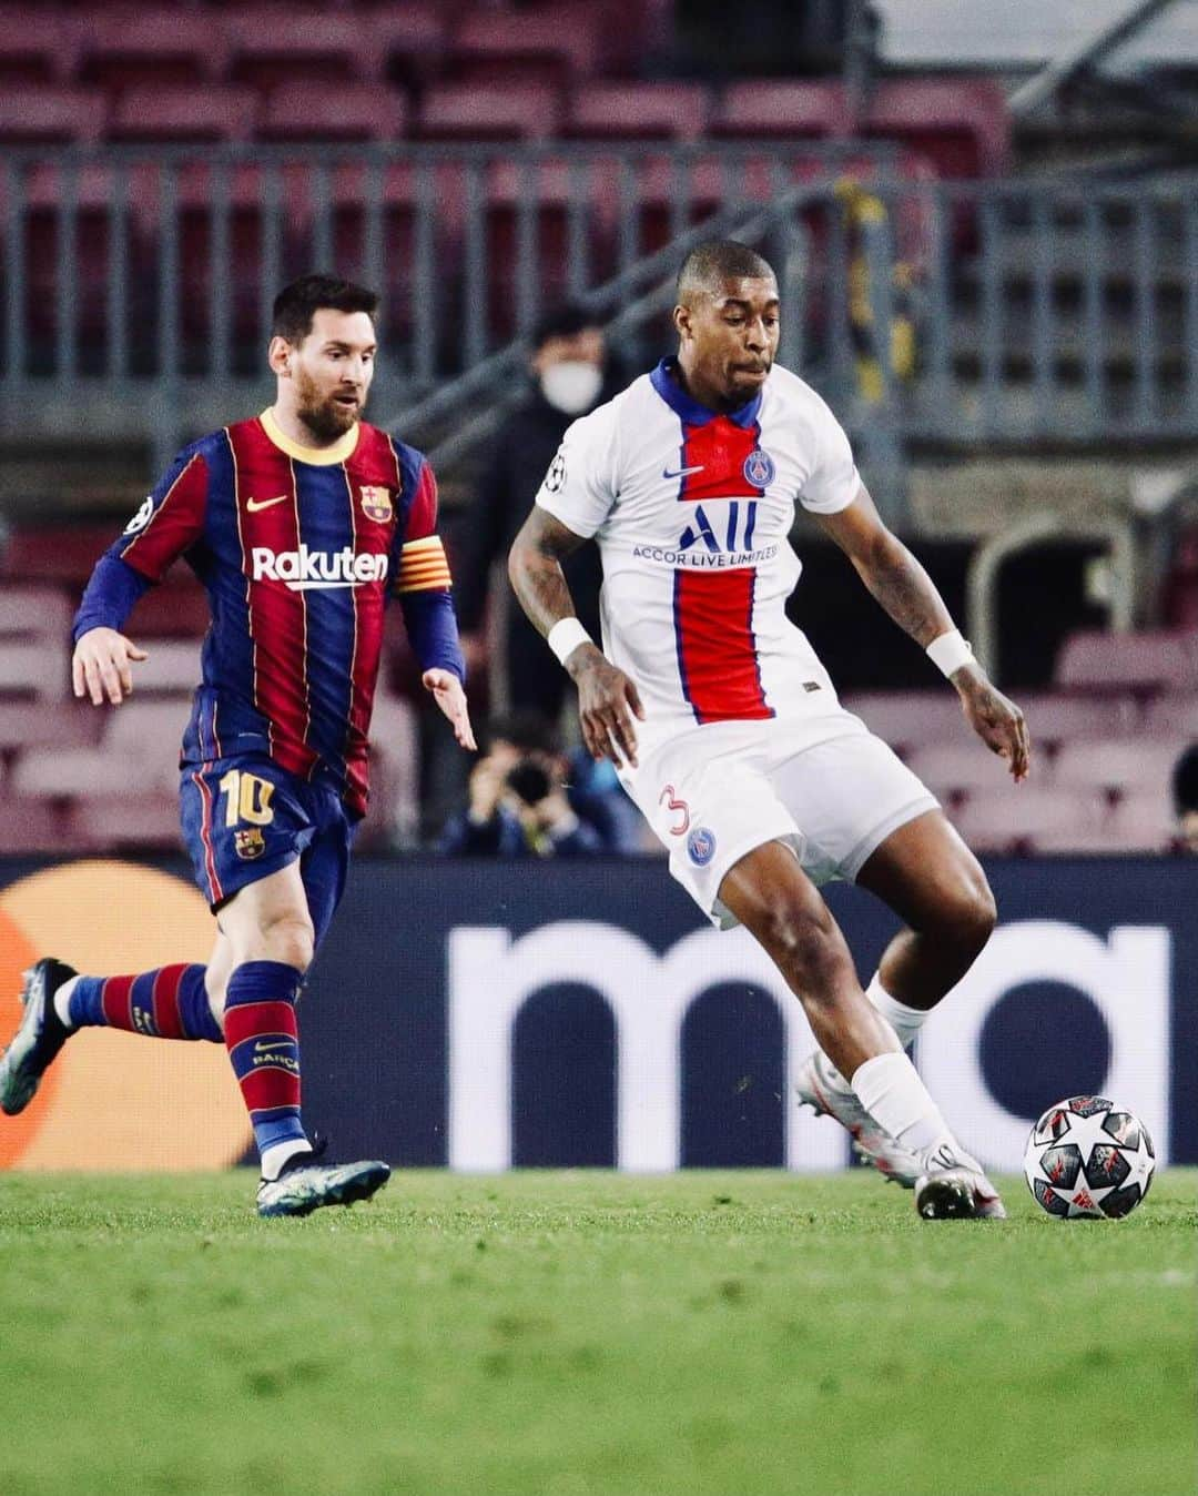
[[[915,1189],[921,1216],[1002,1216],[905,1046],[995,925],[975,857],[933,796],[845,712],[784,610],[794,501],[948,676],[966,723],[1023,779],[1023,714],[972,658],[927,573],[878,518],[823,399],[776,367],[778,283],[736,241],[679,272],[678,358],[565,432],[509,570],[610,757],[721,926],[745,925],[803,1004],[818,1050],[800,1098]],[[603,651],[561,561],[595,537]],[[818,886],[847,878],[905,922],[863,992]]]

